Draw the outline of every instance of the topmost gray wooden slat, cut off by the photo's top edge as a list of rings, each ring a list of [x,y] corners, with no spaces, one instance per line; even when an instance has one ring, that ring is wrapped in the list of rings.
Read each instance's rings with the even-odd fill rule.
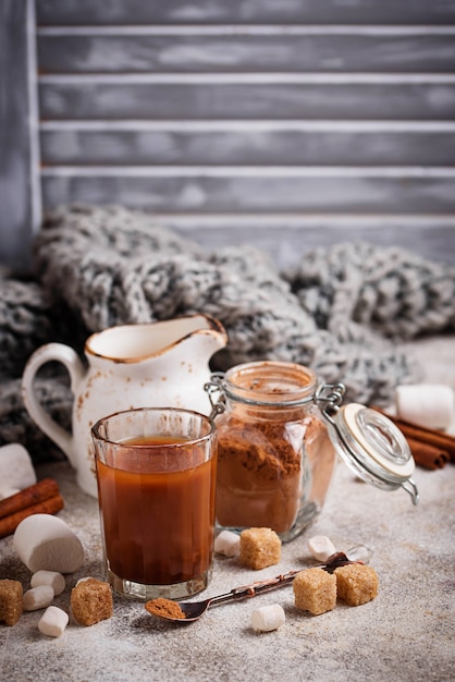
[[[36,0],[38,24],[445,24],[454,0]]]

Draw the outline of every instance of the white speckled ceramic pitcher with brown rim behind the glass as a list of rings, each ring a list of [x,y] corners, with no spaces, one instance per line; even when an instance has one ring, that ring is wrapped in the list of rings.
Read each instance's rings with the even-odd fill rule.
[[[225,346],[226,332],[208,315],[111,327],[85,343],[88,366],[62,343],[48,343],[30,356],[23,378],[24,404],[40,429],[66,454],[83,490],[97,497],[90,429],[102,416],[132,407],[184,407],[209,414],[204,385],[209,361]],[[72,434],[44,410],[34,390],[38,369],[61,362],[74,394]]]

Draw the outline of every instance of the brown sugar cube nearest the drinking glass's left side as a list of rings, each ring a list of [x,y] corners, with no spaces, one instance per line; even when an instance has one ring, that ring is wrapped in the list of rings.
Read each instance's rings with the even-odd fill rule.
[[[111,586],[95,577],[79,581],[71,590],[71,608],[81,625],[94,625],[111,618],[113,613]]]

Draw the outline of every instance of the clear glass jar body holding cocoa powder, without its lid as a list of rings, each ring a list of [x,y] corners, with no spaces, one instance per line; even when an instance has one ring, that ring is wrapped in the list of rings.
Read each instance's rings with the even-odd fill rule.
[[[231,370],[238,386],[231,387],[226,413],[217,423],[220,526],[270,527],[282,535],[305,506],[311,509],[307,516],[321,509],[335,452],[312,405],[286,404],[313,389],[303,370],[312,378],[310,370],[287,363],[250,363],[239,366],[238,376]]]

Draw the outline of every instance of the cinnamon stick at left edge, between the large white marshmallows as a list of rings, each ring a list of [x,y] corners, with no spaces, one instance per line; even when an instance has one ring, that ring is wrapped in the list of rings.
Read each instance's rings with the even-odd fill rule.
[[[56,514],[64,507],[53,478],[44,478],[15,495],[0,500],[0,538],[14,533],[21,521],[32,514]]]

